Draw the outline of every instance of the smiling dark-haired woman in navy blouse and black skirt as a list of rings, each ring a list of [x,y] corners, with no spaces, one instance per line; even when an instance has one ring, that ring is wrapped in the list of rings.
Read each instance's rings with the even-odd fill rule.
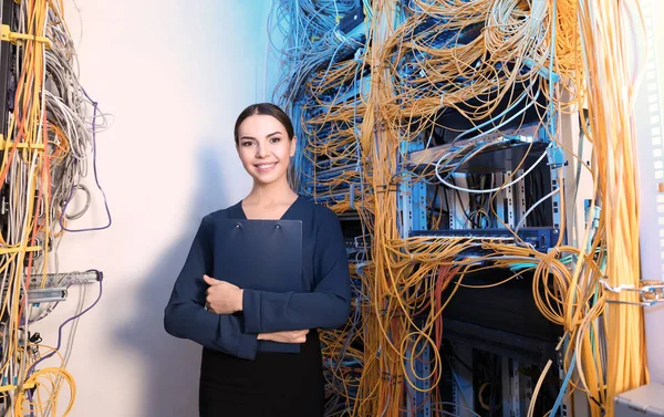
[[[173,336],[204,346],[201,417],[322,416],[317,329],[340,327],[350,312],[341,226],[331,210],[289,187],[287,171],[297,138],[291,121],[278,106],[247,107],[236,122],[235,142],[253,188],[242,201],[203,219],[164,324]],[[237,219],[238,225],[258,219],[300,220],[302,264],[295,269],[301,271],[302,288],[309,290],[271,292],[260,284],[242,288],[242,277],[212,277],[215,258],[218,261],[224,253],[219,247],[229,239],[227,232],[219,238],[225,230],[221,225],[229,219]],[[249,262],[261,260],[260,253],[249,253]],[[281,279],[280,271],[259,279]]]

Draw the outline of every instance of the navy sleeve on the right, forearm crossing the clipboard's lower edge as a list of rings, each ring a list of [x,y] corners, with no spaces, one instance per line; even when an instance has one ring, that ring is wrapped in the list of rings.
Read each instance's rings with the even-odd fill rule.
[[[277,293],[245,289],[246,331],[336,329],[347,320],[351,283],[347,256],[336,216],[323,209],[315,233],[314,286],[309,293]]]

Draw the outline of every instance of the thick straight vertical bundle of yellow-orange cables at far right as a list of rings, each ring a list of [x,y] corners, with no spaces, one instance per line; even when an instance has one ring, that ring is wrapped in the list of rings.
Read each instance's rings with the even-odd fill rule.
[[[643,31],[639,4],[580,1],[579,22],[588,63],[590,135],[595,154],[595,184],[602,204],[600,233],[606,244],[606,278],[613,288],[639,288],[639,188],[633,104],[644,54],[630,67],[631,37]],[[625,19],[629,17],[629,19]],[[629,22],[629,24],[626,23]],[[630,25],[631,24],[631,25]],[[636,38],[637,40],[637,38]],[[637,45],[637,44],[636,44]],[[637,48],[635,49],[637,50]],[[636,294],[610,296],[603,323],[606,337],[605,408],[613,414],[616,394],[647,383],[643,311]],[[618,303],[616,303],[618,302]],[[583,385],[592,375],[581,375]],[[602,382],[600,382],[601,384]],[[589,389],[592,387],[589,386]]]

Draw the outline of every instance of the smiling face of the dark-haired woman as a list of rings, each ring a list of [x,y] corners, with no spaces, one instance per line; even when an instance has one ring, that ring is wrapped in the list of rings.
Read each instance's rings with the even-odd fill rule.
[[[289,140],[277,118],[255,114],[238,128],[238,154],[255,181],[271,184],[286,176],[290,157],[295,154],[295,138]]]

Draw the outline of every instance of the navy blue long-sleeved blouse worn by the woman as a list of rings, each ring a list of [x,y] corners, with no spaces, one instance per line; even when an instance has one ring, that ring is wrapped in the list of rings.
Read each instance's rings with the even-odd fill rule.
[[[216,314],[205,310],[214,275],[215,231],[228,219],[247,220],[241,204],[206,216],[178,275],[165,310],[164,326],[175,337],[252,359],[257,351],[298,352],[299,345],[258,341],[259,333],[336,329],[350,313],[350,274],[341,225],[334,212],[302,197],[280,220],[302,221],[302,279],[310,292],[271,292],[242,288],[243,311]]]

